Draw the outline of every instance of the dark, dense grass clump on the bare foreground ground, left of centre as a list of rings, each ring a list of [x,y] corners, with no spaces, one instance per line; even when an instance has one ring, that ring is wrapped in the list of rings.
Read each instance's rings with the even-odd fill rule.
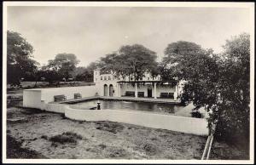
[[[66,143],[76,144],[78,139],[83,139],[83,137],[73,132],[65,132],[63,134],[57,134],[55,136],[50,137],[49,141],[51,141],[53,144],[59,143],[63,145]]]

